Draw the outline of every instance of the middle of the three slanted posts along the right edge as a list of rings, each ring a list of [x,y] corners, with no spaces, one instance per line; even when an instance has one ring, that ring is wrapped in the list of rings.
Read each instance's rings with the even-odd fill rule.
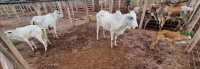
[[[200,18],[200,9],[198,9],[197,13],[195,14],[194,18],[192,19],[192,22],[188,25],[187,32],[191,32],[196,23],[198,22]]]

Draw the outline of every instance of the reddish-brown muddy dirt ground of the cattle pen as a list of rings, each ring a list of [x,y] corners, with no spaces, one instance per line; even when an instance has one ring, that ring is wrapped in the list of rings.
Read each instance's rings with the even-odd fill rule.
[[[16,18],[5,19],[8,25],[2,29],[28,25],[31,17],[22,17],[23,22]],[[32,69],[189,69],[188,55],[183,52],[186,45],[175,46],[170,52],[169,42],[164,40],[159,41],[154,50],[149,49],[156,31],[126,30],[114,48],[110,47],[108,31],[103,38],[100,30],[99,40],[96,40],[96,22],[72,28],[68,19],[60,19],[57,32],[59,39],[49,32],[52,45],[47,52],[39,41],[35,41],[39,48],[35,51],[25,42],[16,46]]]

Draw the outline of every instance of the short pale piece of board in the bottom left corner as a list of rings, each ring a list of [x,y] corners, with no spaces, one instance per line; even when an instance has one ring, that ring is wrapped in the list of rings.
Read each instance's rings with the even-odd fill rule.
[[[11,62],[6,56],[0,51],[0,61],[3,69],[14,69]]]

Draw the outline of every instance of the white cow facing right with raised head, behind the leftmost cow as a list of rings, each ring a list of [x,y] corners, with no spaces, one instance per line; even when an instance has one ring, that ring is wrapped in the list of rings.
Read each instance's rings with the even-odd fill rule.
[[[49,13],[43,16],[34,16],[30,23],[32,25],[38,25],[42,29],[54,29],[54,37],[58,38],[57,33],[56,33],[56,21],[59,18],[63,18],[63,15],[61,12],[55,10],[53,13]],[[46,30],[45,30],[46,34]],[[49,40],[48,40],[49,42]]]

